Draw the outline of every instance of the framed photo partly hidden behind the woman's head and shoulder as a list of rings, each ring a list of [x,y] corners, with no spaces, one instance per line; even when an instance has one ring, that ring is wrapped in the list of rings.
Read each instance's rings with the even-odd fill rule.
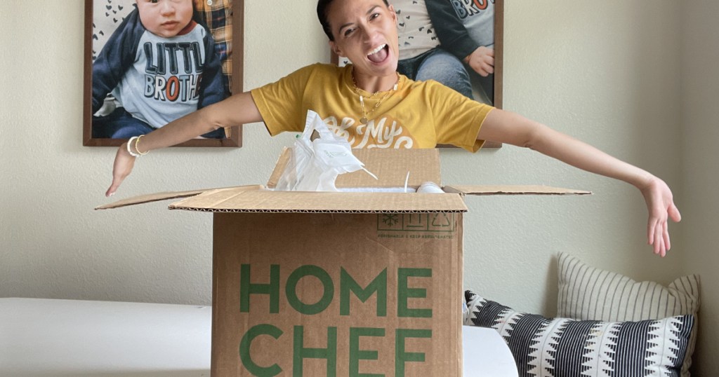
[[[503,78],[503,29],[504,0],[389,0],[398,18],[400,64],[398,71],[413,80],[434,79],[470,96],[475,101],[502,108]],[[457,43],[461,40],[465,43]],[[444,42],[444,45],[443,45]],[[458,47],[462,45],[462,47]],[[493,55],[493,73],[473,68],[457,55],[467,54],[467,49],[482,49],[485,55]],[[441,50],[436,52],[435,49]],[[444,55],[442,55],[444,54]],[[445,59],[437,76],[429,75],[433,59]],[[451,62],[448,61],[452,60]],[[331,52],[331,62],[339,65],[349,63]],[[419,67],[422,67],[421,70]],[[452,83],[457,75],[445,75],[452,67],[465,72],[467,80]],[[426,67],[430,67],[426,70]],[[440,74],[441,73],[441,74]],[[439,145],[445,146],[445,145]],[[487,141],[485,148],[498,148],[500,143]]]

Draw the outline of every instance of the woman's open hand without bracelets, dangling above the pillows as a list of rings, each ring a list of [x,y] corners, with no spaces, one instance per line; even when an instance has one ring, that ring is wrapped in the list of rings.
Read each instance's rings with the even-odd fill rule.
[[[665,256],[672,247],[667,221],[671,218],[674,222],[679,222],[682,220],[682,215],[674,205],[672,190],[669,190],[669,186],[663,180],[652,177],[649,184],[641,187],[640,190],[649,210],[649,221],[646,226],[647,243],[654,246],[655,254]]]

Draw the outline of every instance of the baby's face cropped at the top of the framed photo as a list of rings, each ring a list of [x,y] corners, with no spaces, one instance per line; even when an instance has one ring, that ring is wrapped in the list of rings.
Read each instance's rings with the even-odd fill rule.
[[[192,0],[137,0],[139,20],[160,37],[175,37],[191,21]]]

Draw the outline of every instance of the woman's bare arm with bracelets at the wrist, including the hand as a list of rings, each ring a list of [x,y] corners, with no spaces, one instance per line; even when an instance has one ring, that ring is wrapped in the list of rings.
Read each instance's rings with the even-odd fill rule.
[[[224,101],[214,103],[189,113],[176,121],[172,121],[160,129],[150,132],[142,137],[139,150],[142,153],[152,149],[180,144],[183,141],[194,139],[196,136],[206,134],[224,126],[237,126],[262,121],[260,111],[252,100],[249,92],[239,93]],[[131,146],[134,150],[134,145]],[[112,184],[105,192],[105,196],[115,193],[117,187],[132,172],[135,157],[127,152],[127,143],[123,143],[115,154],[112,167]]]

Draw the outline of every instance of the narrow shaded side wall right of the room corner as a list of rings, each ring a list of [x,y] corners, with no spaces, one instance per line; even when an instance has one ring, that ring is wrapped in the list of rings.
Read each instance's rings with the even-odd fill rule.
[[[697,376],[719,371],[719,2],[690,1],[682,10],[682,183],[684,270],[702,276]]]

